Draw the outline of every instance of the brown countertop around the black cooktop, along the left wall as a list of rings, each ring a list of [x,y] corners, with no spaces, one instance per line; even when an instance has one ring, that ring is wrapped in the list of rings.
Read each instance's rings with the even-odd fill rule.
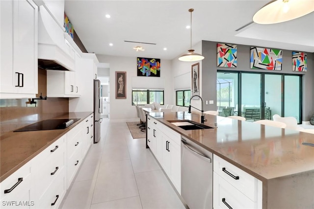
[[[32,158],[46,149],[50,144],[74,128],[92,112],[68,113],[56,118],[80,118],[76,123],[65,129],[47,131],[8,132],[0,136],[0,182],[29,162]],[[51,119],[49,114],[40,118]],[[32,123],[37,122],[32,120]],[[12,123],[14,125],[14,123]]]

